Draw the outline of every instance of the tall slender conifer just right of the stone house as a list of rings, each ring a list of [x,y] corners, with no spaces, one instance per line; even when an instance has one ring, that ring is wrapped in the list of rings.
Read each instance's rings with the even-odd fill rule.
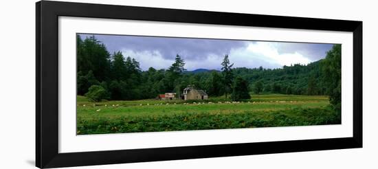
[[[230,60],[228,59],[228,55],[225,55],[223,58],[222,65],[222,75],[223,75],[223,89],[225,92],[225,98],[227,98],[227,91],[230,91],[232,88],[232,81],[234,79],[234,74],[232,74],[232,66],[234,63],[230,64]]]

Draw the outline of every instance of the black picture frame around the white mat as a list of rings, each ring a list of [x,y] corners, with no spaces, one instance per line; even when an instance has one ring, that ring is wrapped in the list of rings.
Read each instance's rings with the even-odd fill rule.
[[[353,137],[58,153],[58,16],[353,32]],[[57,168],[362,148],[362,21],[39,1],[36,3],[36,166]]]

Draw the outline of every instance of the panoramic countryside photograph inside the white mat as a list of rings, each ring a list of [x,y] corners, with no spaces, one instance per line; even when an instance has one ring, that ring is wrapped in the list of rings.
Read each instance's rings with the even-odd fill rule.
[[[76,134],[341,124],[341,49],[76,34]]]

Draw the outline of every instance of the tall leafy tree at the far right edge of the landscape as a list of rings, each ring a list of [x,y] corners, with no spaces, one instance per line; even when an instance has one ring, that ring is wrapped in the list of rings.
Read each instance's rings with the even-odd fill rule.
[[[321,68],[326,85],[326,93],[329,95],[331,104],[337,110],[341,110],[341,50],[342,45],[333,45],[332,49],[327,52],[326,58],[322,60]]]

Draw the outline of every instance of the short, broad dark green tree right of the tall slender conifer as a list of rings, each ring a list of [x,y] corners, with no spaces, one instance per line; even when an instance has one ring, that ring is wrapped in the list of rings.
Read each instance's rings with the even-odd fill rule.
[[[248,91],[248,82],[244,80],[240,76],[235,78],[235,82],[232,88],[232,100],[244,100],[250,99],[251,95],[249,95]]]

